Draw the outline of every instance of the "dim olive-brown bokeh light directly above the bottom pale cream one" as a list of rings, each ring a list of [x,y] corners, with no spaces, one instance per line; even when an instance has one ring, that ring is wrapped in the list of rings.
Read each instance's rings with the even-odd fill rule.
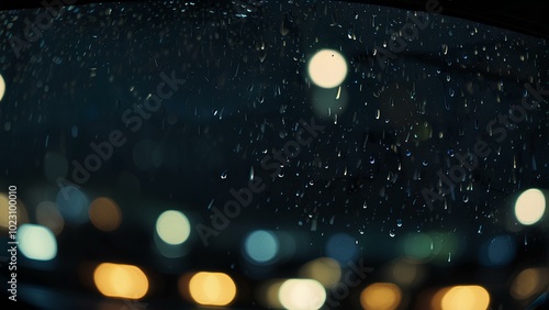
[[[324,287],[330,287],[339,281],[341,268],[337,261],[329,257],[321,257],[303,265],[299,274],[303,278],[317,280]]]

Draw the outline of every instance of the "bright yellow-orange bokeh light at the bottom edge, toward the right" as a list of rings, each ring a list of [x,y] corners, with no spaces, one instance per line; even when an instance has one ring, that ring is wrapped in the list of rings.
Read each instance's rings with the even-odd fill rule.
[[[441,310],[486,310],[490,295],[481,286],[455,286],[444,295]]]

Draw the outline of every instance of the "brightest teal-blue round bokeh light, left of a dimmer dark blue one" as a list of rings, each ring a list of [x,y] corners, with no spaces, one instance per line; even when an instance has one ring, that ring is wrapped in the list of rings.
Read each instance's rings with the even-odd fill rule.
[[[244,251],[253,263],[269,263],[279,252],[279,241],[270,231],[255,231],[246,237]]]

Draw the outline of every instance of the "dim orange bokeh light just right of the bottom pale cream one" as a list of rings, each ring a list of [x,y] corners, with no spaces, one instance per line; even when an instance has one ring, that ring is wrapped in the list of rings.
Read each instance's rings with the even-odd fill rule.
[[[394,284],[372,284],[360,292],[360,305],[365,310],[393,310],[401,300],[401,289]]]

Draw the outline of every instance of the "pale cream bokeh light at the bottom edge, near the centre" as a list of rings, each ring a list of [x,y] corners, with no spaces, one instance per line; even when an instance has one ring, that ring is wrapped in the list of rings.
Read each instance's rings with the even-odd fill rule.
[[[320,309],[326,301],[326,290],[313,279],[285,280],[278,296],[280,303],[292,310]]]

